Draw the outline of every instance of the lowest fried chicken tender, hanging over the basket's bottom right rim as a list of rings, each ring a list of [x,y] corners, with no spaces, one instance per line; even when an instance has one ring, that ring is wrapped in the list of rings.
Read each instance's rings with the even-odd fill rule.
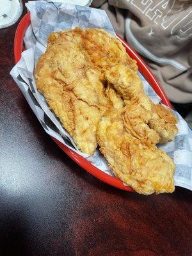
[[[101,118],[97,141],[116,177],[136,192],[150,195],[174,191],[172,159],[163,150],[148,148],[127,133],[116,109],[109,109]]]

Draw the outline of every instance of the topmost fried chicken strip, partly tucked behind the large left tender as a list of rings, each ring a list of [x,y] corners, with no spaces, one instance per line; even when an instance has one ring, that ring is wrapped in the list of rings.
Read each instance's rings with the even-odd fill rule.
[[[52,33],[48,45],[57,42],[75,42],[90,65],[101,73],[118,63],[138,71],[136,61],[129,57],[122,43],[104,29],[75,28]]]

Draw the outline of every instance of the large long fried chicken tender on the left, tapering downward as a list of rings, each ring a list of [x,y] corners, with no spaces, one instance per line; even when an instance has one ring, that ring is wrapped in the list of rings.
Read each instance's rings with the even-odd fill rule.
[[[96,107],[98,95],[90,88],[84,65],[84,55],[74,42],[58,42],[48,45],[38,60],[35,78],[38,90],[44,94],[49,108],[60,118],[77,147],[86,154],[93,154],[97,147],[95,134],[100,112]],[[86,100],[90,95],[92,100]]]

